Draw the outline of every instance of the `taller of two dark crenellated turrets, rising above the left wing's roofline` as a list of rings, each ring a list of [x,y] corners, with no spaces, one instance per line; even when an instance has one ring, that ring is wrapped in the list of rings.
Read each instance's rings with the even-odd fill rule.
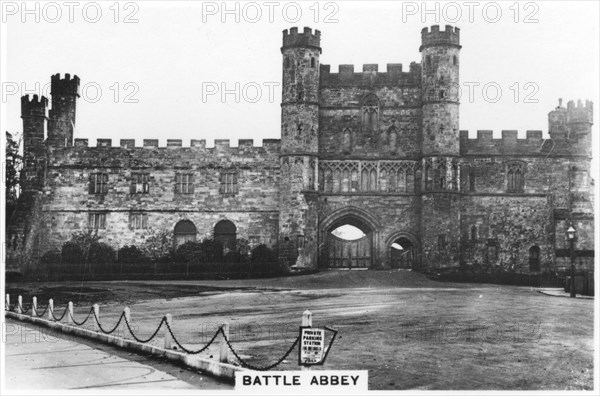
[[[75,113],[79,98],[79,77],[65,74],[52,76],[50,93],[52,109],[48,123],[48,146],[51,148],[73,146],[73,130],[75,129]]]

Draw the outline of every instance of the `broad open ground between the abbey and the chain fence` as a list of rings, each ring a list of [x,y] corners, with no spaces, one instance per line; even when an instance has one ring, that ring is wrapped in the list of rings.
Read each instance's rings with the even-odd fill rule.
[[[7,293],[37,295],[42,308],[54,298],[57,314],[72,300],[77,320],[97,302],[106,328],[127,305],[139,337],[171,313],[176,336],[193,349],[228,322],[234,348],[255,365],[284,354],[309,309],[313,326],[339,330],[318,369],[369,370],[374,390],[593,388],[594,301],[530,287],[442,283],[409,271],[326,271],[254,280],[15,283]],[[206,352],[216,354],[216,346]],[[277,369],[297,368],[294,351]]]

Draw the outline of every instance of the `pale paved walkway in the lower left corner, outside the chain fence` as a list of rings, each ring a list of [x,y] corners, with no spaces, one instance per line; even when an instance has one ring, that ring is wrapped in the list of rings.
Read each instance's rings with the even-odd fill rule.
[[[3,340],[4,341],[4,340]],[[153,358],[6,319],[6,389],[231,389]],[[127,359],[124,356],[131,356]],[[189,377],[183,381],[171,373]]]

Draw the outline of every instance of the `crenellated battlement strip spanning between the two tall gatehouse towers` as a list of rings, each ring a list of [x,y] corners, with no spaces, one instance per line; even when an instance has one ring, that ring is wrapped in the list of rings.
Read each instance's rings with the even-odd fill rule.
[[[321,87],[416,85],[421,81],[421,64],[411,62],[408,72],[402,71],[401,63],[388,63],[386,72],[379,72],[377,64],[364,64],[362,72],[355,72],[354,65],[339,65],[338,73],[331,73],[330,65],[321,65]]]

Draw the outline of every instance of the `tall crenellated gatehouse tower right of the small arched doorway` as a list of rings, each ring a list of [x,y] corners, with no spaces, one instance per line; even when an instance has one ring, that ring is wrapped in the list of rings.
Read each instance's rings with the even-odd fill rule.
[[[422,233],[426,262],[458,263],[459,253],[459,52],[458,28],[421,31]]]

